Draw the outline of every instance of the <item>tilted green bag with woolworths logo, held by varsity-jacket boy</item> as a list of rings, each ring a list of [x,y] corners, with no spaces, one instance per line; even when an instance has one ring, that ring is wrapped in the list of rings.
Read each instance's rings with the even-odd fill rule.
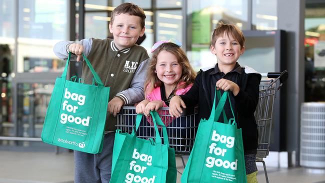
[[[64,71],[57,77],[41,133],[43,142],[73,150],[98,153],[102,149],[109,87],[104,87],[89,60],[92,84],[66,80],[71,53]],[[76,78],[76,77],[75,77]]]

